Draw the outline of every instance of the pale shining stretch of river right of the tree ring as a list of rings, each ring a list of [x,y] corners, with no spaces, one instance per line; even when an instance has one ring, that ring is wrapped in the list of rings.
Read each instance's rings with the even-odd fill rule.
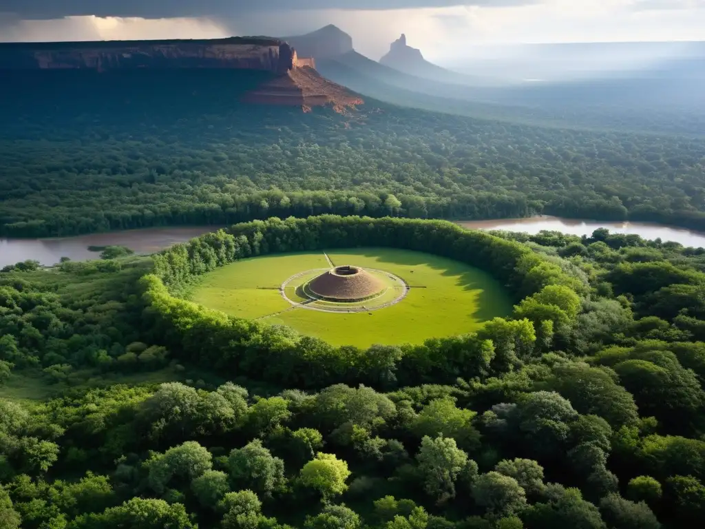
[[[645,239],[661,238],[661,241],[664,242],[675,241],[684,246],[705,248],[705,233],[649,222],[601,222],[563,219],[561,217],[529,217],[527,219],[461,221],[458,224],[472,229],[525,231],[532,234],[539,233],[541,230],[552,230],[571,235],[591,235],[598,228],[606,228],[617,233],[635,233]]]

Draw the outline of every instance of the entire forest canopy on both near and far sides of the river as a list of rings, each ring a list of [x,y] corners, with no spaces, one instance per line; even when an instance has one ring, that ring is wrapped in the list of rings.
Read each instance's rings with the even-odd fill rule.
[[[262,75],[0,83],[0,236],[230,226],[0,270],[0,528],[698,526],[705,250],[427,219],[705,229],[703,140],[240,104]],[[483,269],[513,312],[362,349],[189,300],[228,262],[357,246]]]

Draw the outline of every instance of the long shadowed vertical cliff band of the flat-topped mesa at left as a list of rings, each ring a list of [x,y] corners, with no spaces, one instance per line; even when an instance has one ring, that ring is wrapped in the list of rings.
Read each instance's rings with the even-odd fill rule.
[[[245,68],[281,75],[297,61],[276,39],[0,44],[0,69]]]

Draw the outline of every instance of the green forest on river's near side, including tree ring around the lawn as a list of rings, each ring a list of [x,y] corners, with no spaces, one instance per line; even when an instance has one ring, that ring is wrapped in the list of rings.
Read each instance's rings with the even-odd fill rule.
[[[181,299],[233,259],[355,243],[491,269],[514,314],[362,351]],[[0,527],[656,529],[705,516],[701,249],[324,216],[114,255],[0,272]]]

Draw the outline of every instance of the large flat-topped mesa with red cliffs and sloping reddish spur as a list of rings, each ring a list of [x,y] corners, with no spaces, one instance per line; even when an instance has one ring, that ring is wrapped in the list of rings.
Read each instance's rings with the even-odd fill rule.
[[[326,28],[320,31],[331,33]],[[261,72],[262,83],[243,102],[305,111],[329,105],[339,112],[364,103],[322,77],[315,66],[312,56],[300,57],[291,44],[271,37],[0,44],[0,71],[249,70]]]

